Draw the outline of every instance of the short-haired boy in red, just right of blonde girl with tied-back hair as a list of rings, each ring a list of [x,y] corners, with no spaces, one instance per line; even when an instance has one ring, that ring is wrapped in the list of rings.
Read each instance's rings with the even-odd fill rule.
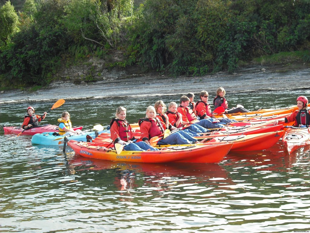
[[[202,126],[206,129],[212,129],[212,128],[222,128],[222,124],[213,123],[215,121],[219,121],[214,118],[208,118],[208,119],[201,119],[198,120],[196,115],[193,113],[192,109],[188,107],[189,104],[189,98],[185,95],[181,96],[180,98],[180,106],[177,108],[177,111],[181,113],[183,124],[197,124],[199,126]]]

